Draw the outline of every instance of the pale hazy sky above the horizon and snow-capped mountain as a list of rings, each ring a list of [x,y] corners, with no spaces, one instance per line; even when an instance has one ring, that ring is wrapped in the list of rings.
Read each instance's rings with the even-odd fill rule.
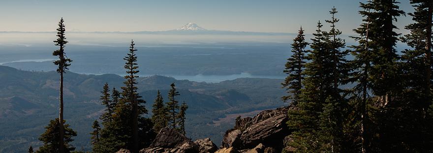
[[[366,0],[1,0],[0,31],[54,31],[61,17],[69,31],[165,31],[193,22],[208,30],[313,32],[339,10],[340,30],[358,27]],[[408,0],[399,0],[406,12]],[[403,28],[410,17],[399,18]]]

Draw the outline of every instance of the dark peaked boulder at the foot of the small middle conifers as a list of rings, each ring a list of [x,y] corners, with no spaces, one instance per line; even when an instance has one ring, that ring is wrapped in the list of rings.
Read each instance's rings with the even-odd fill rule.
[[[199,153],[198,146],[175,129],[162,128],[149,148],[140,153]]]

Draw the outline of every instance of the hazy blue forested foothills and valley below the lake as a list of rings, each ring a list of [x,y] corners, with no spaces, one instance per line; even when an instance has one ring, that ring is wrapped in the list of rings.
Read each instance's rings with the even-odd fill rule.
[[[99,101],[100,91],[105,83],[110,85],[110,89],[121,90],[124,78],[115,74],[73,72],[66,72],[64,77],[65,120],[79,132],[73,145],[88,150],[92,122],[104,109]],[[22,146],[41,146],[37,137],[43,133],[46,123],[58,116],[58,80],[56,71],[32,72],[0,65],[0,129],[3,131],[0,133],[0,152],[21,153],[26,149],[20,148]],[[279,100],[284,94],[279,85],[281,81],[239,78],[204,83],[149,76],[137,78],[137,86],[139,94],[147,101],[146,108],[151,110],[157,90],[166,100],[166,93],[174,82],[181,94],[179,101],[189,105],[186,112],[187,136],[193,139],[210,137],[219,143],[224,131],[233,124],[215,125],[213,121],[224,118],[226,114],[286,105]]]

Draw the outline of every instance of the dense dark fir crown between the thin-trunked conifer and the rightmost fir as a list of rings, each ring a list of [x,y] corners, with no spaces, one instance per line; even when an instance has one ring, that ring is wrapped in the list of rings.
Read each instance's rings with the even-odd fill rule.
[[[374,9],[371,17],[370,38],[373,42],[376,54],[372,57],[373,65],[371,71],[372,92],[380,97],[381,105],[387,105],[390,96],[401,90],[399,80],[401,72],[397,66],[399,56],[395,49],[398,41],[398,34],[394,31],[397,27],[394,21],[397,17],[404,15],[399,9],[396,0],[372,0],[371,5]],[[374,34],[372,34],[374,33]]]

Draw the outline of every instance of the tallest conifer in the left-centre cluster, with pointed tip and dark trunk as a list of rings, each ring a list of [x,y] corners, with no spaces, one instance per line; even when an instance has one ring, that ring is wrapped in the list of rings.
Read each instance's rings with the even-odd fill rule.
[[[139,151],[139,138],[138,138],[138,124],[139,124],[139,118],[141,118],[140,114],[147,114],[147,110],[144,106],[141,106],[141,104],[146,103],[146,101],[144,101],[143,99],[140,99],[141,96],[138,95],[137,92],[137,87],[135,86],[135,84],[137,84],[136,82],[136,78],[138,78],[138,76],[136,75],[138,72],[140,72],[137,66],[137,56],[135,55],[135,51],[137,51],[134,48],[134,41],[131,41],[131,45],[129,47],[129,53],[127,54],[127,56],[124,58],[125,65],[124,68],[127,70],[126,73],[128,75],[125,75],[124,78],[126,79],[126,81],[124,82],[125,87],[122,87],[122,89],[124,90],[123,97],[124,100],[126,101],[127,104],[130,105],[131,108],[131,130],[132,130],[132,146],[131,146],[131,151],[133,153],[138,153]]]

